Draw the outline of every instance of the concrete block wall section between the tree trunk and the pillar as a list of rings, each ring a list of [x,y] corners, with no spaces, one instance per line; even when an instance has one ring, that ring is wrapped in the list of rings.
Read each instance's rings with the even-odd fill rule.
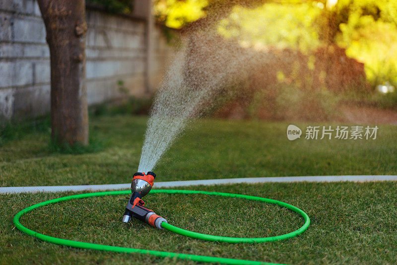
[[[87,10],[86,76],[88,104],[145,91],[145,21]]]

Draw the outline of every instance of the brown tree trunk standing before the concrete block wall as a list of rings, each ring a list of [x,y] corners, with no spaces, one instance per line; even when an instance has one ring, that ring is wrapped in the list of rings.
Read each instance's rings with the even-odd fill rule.
[[[51,57],[51,136],[88,144],[85,0],[38,0]]]

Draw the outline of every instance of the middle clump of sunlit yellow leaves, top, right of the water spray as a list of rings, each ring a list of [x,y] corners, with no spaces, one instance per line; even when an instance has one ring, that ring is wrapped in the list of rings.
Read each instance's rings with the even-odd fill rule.
[[[315,20],[321,8],[309,3],[266,3],[256,8],[237,5],[221,20],[218,32],[254,47],[316,48],[319,41]]]

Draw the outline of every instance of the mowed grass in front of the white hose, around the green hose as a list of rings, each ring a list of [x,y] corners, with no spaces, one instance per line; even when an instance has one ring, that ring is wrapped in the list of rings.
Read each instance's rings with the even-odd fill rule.
[[[91,243],[282,264],[396,264],[397,183],[264,183],[186,187],[269,197],[296,205],[312,221],[293,239],[263,244],[205,242],[121,222],[124,196],[71,200],[21,218],[47,235]],[[2,195],[1,264],[195,264],[147,255],[61,247],[22,234],[12,218],[28,205],[71,193]],[[171,224],[201,233],[263,237],[291,232],[303,220],[275,205],[205,195],[149,194],[147,206]]]

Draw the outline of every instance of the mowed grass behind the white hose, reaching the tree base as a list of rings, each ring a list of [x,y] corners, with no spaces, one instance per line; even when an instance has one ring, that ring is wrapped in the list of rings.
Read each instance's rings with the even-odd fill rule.
[[[103,148],[86,154],[52,152],[49,131],[8,141],[0,147],[0,186],[130,182],[146,120],[128,115],[92,118],[90,131]],[[305,140],[302,135],[289,141],[288,124],[200,120],[159,161],[156,181],[397,173],[396,126],[379,125],[375,140]],[[296,125],[304,130],[323,124]]]

